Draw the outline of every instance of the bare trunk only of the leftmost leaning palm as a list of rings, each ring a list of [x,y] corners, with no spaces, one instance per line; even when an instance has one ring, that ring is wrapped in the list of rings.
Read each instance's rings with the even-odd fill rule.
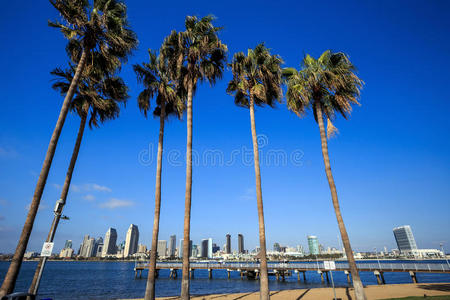
[[[67,91],[66,97],[64,98],[64,102],[61,107],[55,129],[53,130],[53,134],[48,145],[47,154],[45,155],[44,163],[42,165],[41,173],[39,174],[39,179],[34,190],[33,200],[31,201],[30,209],[28,210],[28,215],[25,220],[22,233],[20,234],[19,242],[17,243],[16,251],[14,252],[14,256],[8,268],[8,272],[6,273],[2,287],[0,288],[0,298],[14,291],[16,279],[19,275],[20,266],[22,265],[23,255],[25,254],[25,250],[28,246],[28,240],[30,239],[31,231],[33,230],[34,219],[36,218],[36,213],[39,208],[39,203],[41,202],[42,193],[44,192],[45,183],[47,182],[48,173],[52,165],[53,156],[55,155],[58,139],[61,135],[61,130],[64,126],[67,112],[69,111],[70,102],[78,86],[80,75],[83,72],[85,63],[86,52],[83,51],[77,69],[75,71],[75,75],[72,79],[72,82],[70,83],[69,90]]]

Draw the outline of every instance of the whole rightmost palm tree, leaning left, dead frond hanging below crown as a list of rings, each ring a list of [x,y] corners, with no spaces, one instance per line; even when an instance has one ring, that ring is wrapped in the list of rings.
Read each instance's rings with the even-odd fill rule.
[[[330,158],[328,156],[328,137],[331,137],[336,128],[331,123],[337,113],[345,119],[350,115],[352,104],[359,104],[360,89],[363,81],[355,75],[356,68],[341,52],[333,53],[325,51],[318,59],[306,55],[300,71],[294,68],[283,70],[283,77],[287,83],[287,105],[298,116],[302,116],[306,110],[312,109],[314,118],[319,125],[322,141],[322,155],[325,163],[325,172],[331,190],[334,211],[341,232],[350,272],[353,278],[356,299],[365,300],[366,295],[356,268],[350,239],[342,219],[341,209],[331,173]],[[324,117],[327,118],[327,133],[325,133]]]

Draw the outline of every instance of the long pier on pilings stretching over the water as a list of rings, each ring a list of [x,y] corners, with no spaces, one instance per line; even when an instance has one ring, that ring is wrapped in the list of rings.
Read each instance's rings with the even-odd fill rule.
[[[357,262],[357,267],[360,272],[373,272],[377,278],[379,285],[385,284],[384,279],[385,272],[406,272],[411,276],[411,280],[414,283],[417,281],[417,273],[447,273],[450,274],[450,265],[446,263],[418,263],[418,262],[379,262],[379,263],[365,263]],[[289,262],[289,263],[268,263],[269,272],[268,275],[275,277],[277,280],[285,280],[286,277],[297,274],[297,280],[307,281],[306,272],[315,271],[320,274],[322,283],[329,282],[330,271],[344,272],[347,275],[348,284],[351,285],[350,269],[347,262],[336,262],[335,270],[328,270],[325,268],[323,262],[316,263],[302,263],[302,262]],[[208,278],[213,278],[213,270],[226,270],[228,278],[231,276],[231,272],[239,272],[241,279],[247,277],[248,279],[258,279],[260,273],[259,263],[253,262],[191,262],[190,263],[190,277],[194,278],[195,270],[208,270]],[[136,262],[134,267],[135,278],[142,277],[142,271],[148,269],[147,262]],[[156,264],[157,276],[158,271],[161,269],[170,270],[170,278],[177,278],[178,271],[181,272],[181,262],[158,262]],[[302,275],[302,276],[300,276]]]

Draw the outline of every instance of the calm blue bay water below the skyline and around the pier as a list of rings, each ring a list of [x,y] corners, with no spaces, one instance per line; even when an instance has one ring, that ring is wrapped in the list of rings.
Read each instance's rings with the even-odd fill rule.
[[[312,262],[314,263],[314,262]],[[26,291],[31,283],[37,262],[24,262],[16,284],[16,291]],[[0,282],[8,269],[9,262],[0,261]],[[134,279],[133,262],[48,262],[39,289],[42,298],[52,299],[118,299],[138,298],[145,293],[146,275]],[[361,272],[365,285],[377,284],[372,272]],[[408,273],[385,273],[386,283],[411,283]],[[297,275],[287,277],[286,281],[270,278],[270,290],[315,288],[329,286],[322,284],[317,272],[306,272],[307,282],[297,281]],[[302,279],[302,276],[300,275]],[[343,272],[333,272],[336,286],[347,286]],[[418,273],[419,282],[450,282],[450,274]],[[181,271],[178,279],[169,279],[169,271],[161,270],[156,282],[156,296],[179,295],[181,289]],[[196,270],[191,280],[191,294],[219,294],[255,292],[259,290],[259,281],[241,280],[238,272],[232,272],[227,278],[225,270],[214,270],[213,279],[208,279],[208,271]]]

